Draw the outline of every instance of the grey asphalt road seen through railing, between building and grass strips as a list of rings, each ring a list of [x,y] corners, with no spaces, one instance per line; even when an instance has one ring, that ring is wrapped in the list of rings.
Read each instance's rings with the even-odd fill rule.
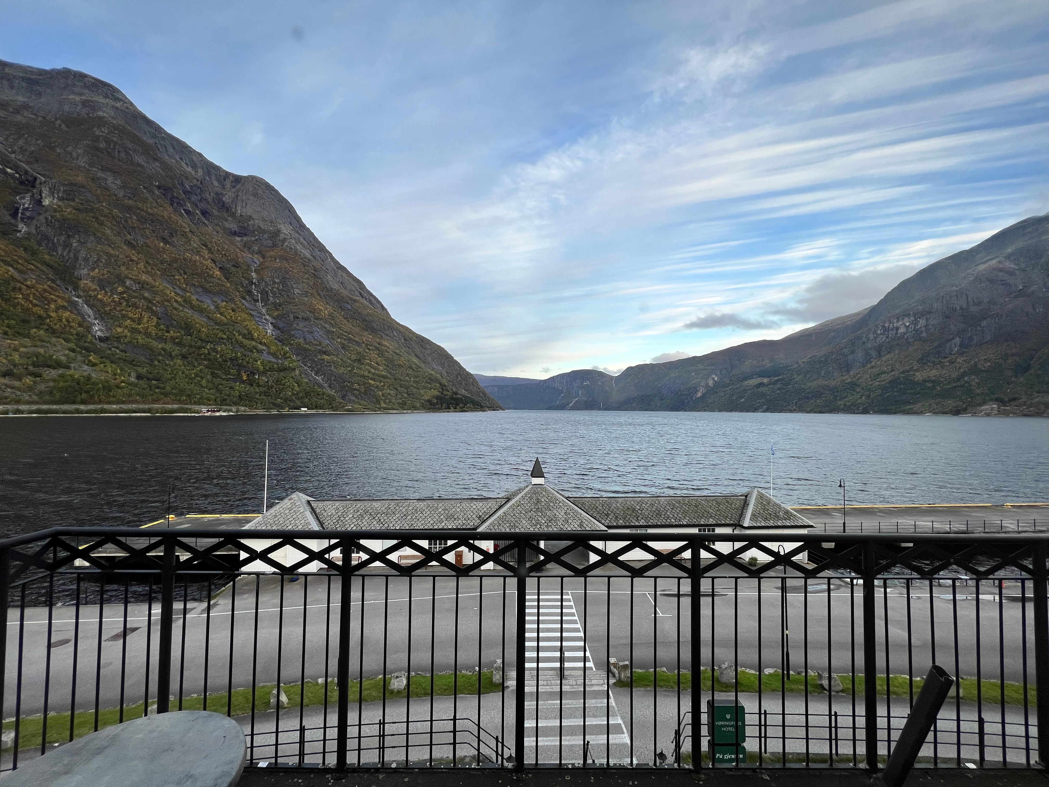
[[[212,603],[189,602],[177,611],[173,633],[172,694],[198,695],[274,682],[335,678],[340,580],[317,575],[298,582],[275,576],[243,577]],[[362,589],[363,582],[363,589]],[[690,668],[691,588],[688,580],[547,576],[540,595],[571,597],[584,632],[585,651],[603,671],[608,657],[635,668],[652,664]],[[790,645],[790,668],[851,673],[862,663],[861,593],[844,582],[777,578],[704,580],[699,599],[700,660],[732,661],[753,669],[779,667]],[[875,616],[879,671],[924,675],[934,659],[950,674],[980,674],[1033,682],[1031,604],[999,601],[990,583],[981,599],[973,586],[927,582],[878,589]],[[529,580],[535,593],[536,580]],[[1010,593],[1013,591],[1009,591]],[[1019,591],[1015,591],[1019,592]],[[516,639],[516,580],[493,576],[355,579],[350,609],[350,673],[370,677],[491,668],[502,659],[512,673]],[[786,604],[787,624],[784,623]],[[150,614],[150,612],[152,614]],[[148,684],[155,700],[159,610],[146,604],[8,611],[4,716],[79,710],[142,700]],[[957,613],[957,614],[956,614]],[[564,650],[565,615],[543,613],[537,623],[540,652]],[[789,635],[785,636],[785,629]],[[977,635],[979,629],[979,637]],[[958,647],[956,648],[956,642]],[[980,646],[977,646],[977,643]],[[50,646],[48,646],[50,643]],[[76,659],[76,671],[73,661]],[[95,680],[98,676],[98,681]],[[97,688],[98,687],[98,688]]]

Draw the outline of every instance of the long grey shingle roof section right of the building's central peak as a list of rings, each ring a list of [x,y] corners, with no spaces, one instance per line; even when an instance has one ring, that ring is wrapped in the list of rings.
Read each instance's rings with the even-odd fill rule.
[[[737,525],[743,518],[747,496],[639,495],[569,499],[608,528],[673,528]]]

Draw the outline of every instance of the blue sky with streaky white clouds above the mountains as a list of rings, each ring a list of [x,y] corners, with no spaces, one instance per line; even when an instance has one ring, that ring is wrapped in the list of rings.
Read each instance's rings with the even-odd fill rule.
[[[264,177],[468,369],[774,339],[1049,211],[1049,6],[53,2],[0,58]]]

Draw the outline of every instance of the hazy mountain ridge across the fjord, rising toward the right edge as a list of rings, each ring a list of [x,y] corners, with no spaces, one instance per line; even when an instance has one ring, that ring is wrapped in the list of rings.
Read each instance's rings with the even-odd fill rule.
[[[583,375],[599,396],[549,390]],[[925,267],[869,309],[600,375],[489,391],[511,408],[1049,414],[1049,214]]]

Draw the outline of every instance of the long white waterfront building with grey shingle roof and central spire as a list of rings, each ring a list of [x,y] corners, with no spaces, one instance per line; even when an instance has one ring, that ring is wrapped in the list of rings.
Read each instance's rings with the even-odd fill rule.
[[[468,549],[449,548],[456,540],[467,538],[477,549],[491,552],[502,546],[499,533],[551,532],[586,533],[603,549],[615,550],[615,539],[601,539],[600,534],[633,535],[646,533],[746,533],[746,539],[761,538],[766,549],[775,553],[789,551],[798,543],[790,535],[813,527],[789,508],[754,488],[743,494],[728,495],[615,495],[569,497],[547,485],[539,460],[532,467],[531,483],[501,497],[435,497],[427,499],[314,499],[300,492],[285,497],[264,514],[249,524],[245,530],[302,530],[300,539],[307,549],[320,549],[331,541],[324,531],[351,530],[405,530],[432,531],[427,549],[444,553],[445,559],[457,566],[473,561]],[[247,534],[245,534],[247,535]],[[265,549],[277,541],[253,539],[254,549]],[[393,547],[397,539],[363,539],[362,546],[370,550]],[[662,551],[671,551],[673,541],[648,541]],[[559,549],[564,541],[540,541],[542,549]],[[729,543],[719,545],[721,551],[730,549]],[[731,547],[734,549],[734,546]],[[293,547],[272,553],[272,558],[284,566],[295,566],[305,555]],[[586,562],[585,552],[576,551],[574,562]],[[650,555],[636,549],[622,555],[624,560],[647,560]],[[691,559],[690,552],[680,555]],[[752,549],[744,559],[769,559],[765,552]],[[342,561],[342,555],[336,556]],[[352,556],[360,559],[360,554]],[[400,565],[421,559],[414,549],[403,547],[388,555]],[[703,556],[701,555],[701,559]],[[805,560],[805,555],[796,559]],[[315,572],[321,567],[316,560],[304,563],[299,570]],[[247,571],[270,571],[260,560],[245,567]]]

